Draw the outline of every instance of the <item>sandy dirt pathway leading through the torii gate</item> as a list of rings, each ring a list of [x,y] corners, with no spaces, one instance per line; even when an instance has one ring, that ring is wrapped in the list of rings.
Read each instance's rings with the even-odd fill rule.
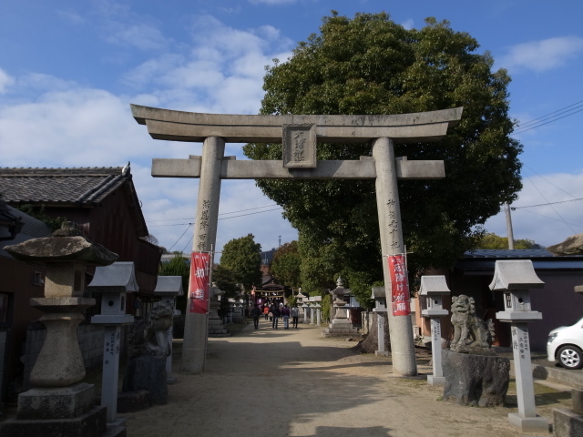
[[[271,330],[261,320],[259,330],[210,339],[204,373],[179,374],[175,360],[167,405],[122,415],[128,437],[521,435],[507,420],[516,409],[438,401],[443,389],[394,377],[389,359],[355,354],[353,342],[320,331]]]

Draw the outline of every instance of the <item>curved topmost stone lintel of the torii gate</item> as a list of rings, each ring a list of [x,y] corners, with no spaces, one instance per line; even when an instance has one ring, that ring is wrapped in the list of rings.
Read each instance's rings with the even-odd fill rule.
[[[282,127],[313,125],[319,143],[367,143],[380,137],[394,143],[437,141],[462,117],[463,107],[396,115],[246,116],[183,112],[131,105],[133,117],[154,139],[228,143],[281,143]]]

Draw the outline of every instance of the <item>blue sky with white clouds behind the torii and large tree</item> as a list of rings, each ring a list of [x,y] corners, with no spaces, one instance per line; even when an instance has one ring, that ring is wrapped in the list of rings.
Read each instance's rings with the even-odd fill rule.
[[[151,139],[129,104],[256,114],[264,66],[287,59],[331,9],[350,17],[384,11],[407,28],[435,16],[474,36],[478,52],[490,51],[495,68],[509,71],[510,115],[522,126],[515,238],[547,246],[583,232],[579,0],[4,0],[0,166],[131,161],[150,233],[167,249],[189,251],[198,180],[151,178],[149,166],[151,158],[188,158],[201,147]],[[557,117],[537,125],[551,113]],[[227,148],[242,158],[240,145]],[[223,181],[219,225],[217,249],[250,232],[263,249],[297,237],[253,181]],[[506,235],[504,215],[486,229]]]

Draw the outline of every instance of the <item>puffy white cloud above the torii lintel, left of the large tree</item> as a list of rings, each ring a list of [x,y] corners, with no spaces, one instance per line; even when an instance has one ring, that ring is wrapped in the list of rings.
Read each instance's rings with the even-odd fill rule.
[[[287,58],[293,46],[278,29],[264,25],[248,31],[202,15],[190,26],[192,45],[165,54],[128,72],[124,81],[156,96],[163,106],[195,112],[256,114],[264,67]]]

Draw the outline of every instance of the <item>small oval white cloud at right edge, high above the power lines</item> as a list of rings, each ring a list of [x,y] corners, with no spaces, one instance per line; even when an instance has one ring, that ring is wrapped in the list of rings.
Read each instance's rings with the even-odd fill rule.
[[[499,65],[510,70],[530,69],[538,72],[563,66],[583,52],[583,38],[561,36],[531,41],[508,49]]]

